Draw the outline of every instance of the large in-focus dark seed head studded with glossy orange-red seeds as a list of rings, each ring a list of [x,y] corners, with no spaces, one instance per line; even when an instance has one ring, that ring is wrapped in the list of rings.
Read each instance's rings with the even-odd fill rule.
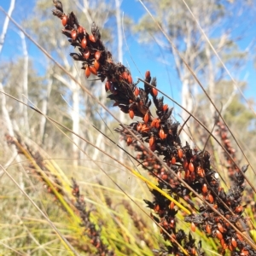
[[[85,76],[90,73],[98,76],[102,82],[107,79],[105,88],[110,91],[108,98],[114,101],[114,106],[119,106],[124,113],[129,113],[131,119],[134,116],[141,117],[142,121],[132,122],[130,125],[120,125],[116,131],[120,133],[128,145],[131,145],[138,152],[137,160],[147,169],[150,174],[158,177],[160,189],[166,189],[169,194],[177,200],[182,197],[188,202],[188,206],[194,210],[185,217],[185,221],[191,224],[191,230],[195,227],[205,232],[207,236],[218,238],[221,245],[221,253],[227,248],[231,255],[256,255],[256,251],[244,241],[224,218],[212,211],[211,205],[230,223],[240,222],[245,227],[247,224],[242,217],[243,207],[241,206],[241,193],[244,189],[244,177],[241,172],[247,171],[247,166],[237,169],[234,185],[227,192],[219,187],[218,173],[212,169],[210,154],[207,151],[200,151],[190,148],[189,144],[182,145],[178,136],[178,123],[171,119],[172,108],[164,104],[163,97],[157,97],[156,79],[151,79],[149,71],[145,73],[144,88],[138,88],[131,79],[130,71],[121,63],[115,63],[112,55],[102,44],[101,34],[98,27],[93,23],[91,34],[79,25],[79,21],[72,13],[65,15],[60,1],[55,1],[56,9],[53,14],[61,18],[65,28],[62,32],[68,37],[69,42],[78,47],[79,53],[71,54],[75,61],[82,61],[82,68],[85,69]],[[150,112],[151,99],[156,108],[156,117]],[[139,141],[131,135],[132,131]],[[148,153],[146,146],[140,142],[148,143],[148,148],[166,163],[170,168],[167,170],[160,164],[160,160],[154,154]],[[174,175],[176,174],[176,175]],[[183,182],[181,182],[183,181]],[[188,185],[196,193],[202,195],[208,204],[203,203],[196,209],[193,203],[193,193]],[[177,230],[176,214],[177,209],[170,200],[161,195],[158,191],[152,190],[154,201],[145,201],[149,208],[154,211],[152,218],[161,227],[161,233],[171,246],[155,252],[166,255],[204,255],[201,250],[201,242],[195,245],[195,239],[183,230]],[[243,229],[241,229],[243,231]],[[185,253],[177,245],[180,244],[186,250]]]

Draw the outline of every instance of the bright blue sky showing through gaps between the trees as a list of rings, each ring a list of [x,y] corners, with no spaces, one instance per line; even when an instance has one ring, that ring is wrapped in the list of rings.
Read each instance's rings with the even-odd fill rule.
[[[35,0],[16,0],[15,11],[13,13],[13,18],[19,23],[21,20],[26,19],[26,16],[32,12],[33,5]],[[9,9],[9,0],[4,0],[0,5],[3,9]],[[121,5],[121,9],[125,15],[129,15],[133,20],[137,21],[139,18],[145,14],[145,10],[143,6],[136,0],[123,0]],[[247,14],[243,14],[245,18]],[[4,15],[0,13],[0,27],[2,30],[3,27],[3,19]],[[253,20],[252,20],[253,22]],[[252,26],[253,27],[253,26]],[[255,26],[254,26],[255,28]],[[220,28],[221,29],[221,28]],[[237,32],[239,29],[237,29]],[[9,32],[7,34],[7,38],[5,41],[5,45],[3,47],[2,55],[0,55],[1,61],[3,60],[15,60],[17,56],[21,55],[20,48],[20,37],[17,34],[18,30],[14,25],[10,23]],[[241,49],[244,49],[248,46],[248,44],[252,41],[253,35],[255,35],[255,29],[247,33],[247,37],[243,38],[239,46]],[[61,35],[61,34],[60,34]],[[38,52],[38,49],[29,41],[26,40],[29,54],[31,57],[35,57],[35,55],[42,55],[42,53]],[[140,45],[137,43],[136,35],[129,35],[127,39],[127,43],[129,44],[129,49],[132,55],[133,60],[136,62],[137,67],[131,61],[131,56],[126,49],[126,45],[124,44],[124,64],[128,65],[131,68],[131,73],[133,79],[136,80],[137,77],[141,77],[140,73],[137,71],[137,68],[141,73],[145,73],[147,69],[151,71],[152,76],[157,76],[158,86],[160,90],[163,90],[169,96],[173,96],[177,102],[180,102],[180,82],[177,79],[177,73],[175,72],[175,66],[173,61],[170,61],[168,65],[160,63],[157,58],[157,54],[159,53],[158,46],[148,48],[148,46]],[[149,49],[149,52],[148,52]],[[152,52],[152,49],[155,49]],[[38,69],[40,69],[40,65],[44,65],[44,61],[37,65]],[[252,60],[248,61],[244,70],[241,71],[240,74],[234,74],[236,78],[246,78],[247,79],[247,90],[245,91],[245,95],[247,97],[256,98],[256,87],[255,87],[255,69],[253,67],[253,55]]]

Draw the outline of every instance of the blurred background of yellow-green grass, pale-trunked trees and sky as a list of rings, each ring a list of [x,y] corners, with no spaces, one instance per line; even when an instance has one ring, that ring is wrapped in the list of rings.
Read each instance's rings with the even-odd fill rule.
[[[114,60],[125,63],[131,54],[136,65],[132,61],[127,65],[131,66],[134,80],[136,76],[143,79],[144,75],[140,73],[151,68],[152,75],[158,79],[158,88],[189,112],[168,102],[174,106],[174,117],[181,125],[192,114],[216,134],[216,109],[210,98],[234,136],[227,131],[237,164],[255,166],[255,86],[252,74],[255,3],[143,1],[154,15],[153,20],[141,5],[141,9],[135,10],[130,17],[126,13],[123,16],[122,8],[126,2],[121,5],[119,0],[62,1],[65,11],[73,10],[84,27],[89,29],[92,21],[96,22],[102,32],[102,41],[113,53]],[[0,95],[0,253],[98,253],[96,241],[86,236],[90,227],[81,227],[74,178],[81,195],[84,195],[85,209],[90,212],[90,224],[109,247],[109,252],[154,255],[152,249],[164,247],[165,241],[149,218],[150,211],[143,201],[150,200],[152,195],[147,185],[127,172],[125,166],[138,168],[156,183],[154,177],[148,177],[147,172],[120,149],[124,147],[129,151],[126,143],[121,142],[113,131],[119,125],[117,121],[80,90],[79,84],[45,56],[42,49],[38,51],[34,42],[108,106],[121,122],[129,123],[129,118],[113,108],[104,84],[99,80],[85,79],[84,70],[69,57],[73,48],[61,35],[61,21],[52,16],[52,1],[27,1],[22,6],[18,0],[11,0],[9,5],[1,8],[9,12],[24,31],[1,13],[0,90],[16,99],[3,93]],[[130,52],[125,46],[127,40],[131,44],[128,44]],[[139,54],[135,48],[139,48]],[[195,72],[202,87],[196,83],[182,58]],[[145,63],[145,60],[151,63]],[[162,73],[166,73],[166,79],[161,78]],[[43,114],[17,99],[38,108]],[[45,115],[70,130],[55,125]],[[181,132],[183,144],[188,142],[201,149],[207,148],[212,154],[212,166],[221,173],[224,187],[228,188],[230,179],[223,149],[212,137],[209,138],[205,128],[193,117]],[[121,147],[111,143],[103,134]],[[130,152],[134,155],[132,150]],[[247,177],[255,188],[252,167],[249,167]],[[244,199],[245,214],[252,218],[252,227],[255,222],[253,196]],[[184,221],[179,225],[184,230],[190,229]],[[201,233],[193,233],[193,236],[199,239]],[[213,252],[218,255],[218,242],[207,236],[201,240],[207,255]]]

